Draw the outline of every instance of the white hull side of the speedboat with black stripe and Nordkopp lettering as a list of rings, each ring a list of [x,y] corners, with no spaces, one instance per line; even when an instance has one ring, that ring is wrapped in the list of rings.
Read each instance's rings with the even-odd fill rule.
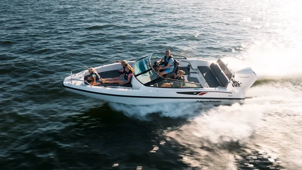
[[[212,104],[212,105],[228,105],[233,103],[243,103],[245,96],[244,94],[235,94],[238,92],[218,92],[217,90],[211,89],[203,89],[203,90],[194,90],[197,93],[204,91],[203,93],[207,93],[205,95],[198,96],[198,95],[185,95],[185,94],[177,94],[175,91],[170,93],[165,93],[163,95],[162,91],[149,91],[149,94],[144,93],[144,91],[136,92],[137,94],[140,94],[139,96],[133,95],[133,92],[131,90],[123,90],[123,92],[126,92],[125,95],[121,94],[114,94],[114,93],[108,93],[108,89],[106,90],[97,90],[97,91],[91,91],[91,90],[85,90],[83,88],[76,89],[76,88],[70,88],[64,85],[66,87],[66,90],[78,93],[81,95],[93,97],[100,100],[110,101],[110,102],[116,102],[116,103],[124,103],[124,104],[130,104],[130,105],[153,105],[153,104],[159,104],[159,103],[201,103],[201,104]],[[88,87],[87,87],[88,88]],[[105,87],[103,87],[105,89]],[[107,92],[106,92],[107,91]],[[119,91],[119,90],[114,90]],[[179,90],[180,92],[192,92],[192,90]],[[128,94],[127,94],[128,93]],[[213,94],[215,93],[215,94]],[[152,95],[152,96],[150,96]],[[238,98],[234,98],[234,96],[238,95]],[[221,97],[223,96],[223,97]]]

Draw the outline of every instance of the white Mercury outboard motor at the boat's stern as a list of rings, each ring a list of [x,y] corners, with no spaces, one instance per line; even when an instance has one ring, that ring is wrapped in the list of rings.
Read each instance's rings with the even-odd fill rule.
[[[256,73],[252,70],[251,67],[246,67],[241,70],[236,71],[234,80],[238,82],[239,87],[246,91],[249,87],[251,87],[255,81],[257,80]]]

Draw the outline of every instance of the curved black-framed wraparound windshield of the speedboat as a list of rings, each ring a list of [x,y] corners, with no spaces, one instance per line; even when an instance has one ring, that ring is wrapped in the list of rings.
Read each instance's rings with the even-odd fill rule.
[[[140,72],[139,74],[134,75],[134,77],[138,80],[137,76],[139,76],[139,75],[141,75],[141,74],[145,74],[145,73],[147,73],[147,72],[149,72],[149,71],[153,71],[153,72],[158,76],[158,78],[156,78],[156,79],[154,79],[154,80],[151,80],[151,81],[149,81],[149,82],[147,82],[147,83],[144,83],[144,84],[143,84],[140,80],[138,80],[141,84],[143,84],[143,85],[146,86],[146,87],[150,87],[150,85],[154,84],[154,82],[160,82],[160,81],[166,79],[166,80],[180,81],[180,82],[185,82],[185,83],[190,83],[190,84],[195,84],[195,85],[201,86],[200,83],[191,83],[191,82],[187,82],[187,81],[175,80],[175,79],[169,79],[169,78],[161,77],[159,74],[156,73],[156,71],[153,69],[153,66],[152,66],[152,64],[151,64],[151,56],[152,56],[153,54],[163,54],[163,56],[165,55],[165,53],[152,53],[152,54],[148,55],[148,56],[149,56],[149,65],[150,65],[150,69],[145,70],[145,71],[143,71],[143,72]],[[172,54],[172,55],[173,55],[173,57],[174,57],[174,56],[179,56],[179,57],[174,57],[175,59],[187,59],[185,56],[176,55],[176,54]],[[148,56],[146,56],[146,57],[148,57]],[[139,60],[142,60],[142,59],[144,59],[144,58],[146,58],[146,57],[142,57],[142,58],[140,58]],[[137,64],[137,61],[139,61],[139,60],[136,60],[136,61],[133,63],[133,67],[134,67],[134,64]],[[159,87],[159,88],[165,88],[165,87]],[[176,89],[189,89],[189,88],[195,88],[195,89],[196,89],[196,88],[203,88],[203,87],[201,86],[201,87],[185,87],[185,88],[184,88],[184,87],[169,87],[169,88],[176,88]]]

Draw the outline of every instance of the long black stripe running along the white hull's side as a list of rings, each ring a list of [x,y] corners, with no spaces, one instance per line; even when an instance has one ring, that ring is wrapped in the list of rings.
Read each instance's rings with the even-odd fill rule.
[[[64,86],[64,84],[63,84]],[[133,97],[133,98],[153,98],[153,99],[211,99],[211,100],[244,100],[245,98],[215,98],[215,97],[161,97],[161,96],[126,96],[119,94],[108,94],[108,93],[99,93],[88,90],[77,89],[73,87],[64,86],[69,89],[78,90],[87,93],[101,94],[106,96],[117,96],[117,97]]]

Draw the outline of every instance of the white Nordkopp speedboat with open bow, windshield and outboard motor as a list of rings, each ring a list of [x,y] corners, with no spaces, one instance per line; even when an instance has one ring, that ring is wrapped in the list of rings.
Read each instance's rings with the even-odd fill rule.
[[[66,90],[97,99],[130,105],[152,105],[158,103],[204,103],[224,105],[243,103],[246,90],[257,80],[251,67],[233,72],[221,59],[211,61],[204,58],[186,58],[175,55],[174,70],[162,77],[154,70],[156,61],[164,53],[152,53],[136,61],[128,61],[134,73],[127,84],[89,84],[88,67],[66,77],[63,86]],[[83,69],[83,67],[76,70]],[[119,77],[123,69],[120,63],[103,64],[94,68],[101,78]],[[185,81],[175,80],[178,70],[185,71]],[[183,82],[182,87],[161,87],[163,83]]]

